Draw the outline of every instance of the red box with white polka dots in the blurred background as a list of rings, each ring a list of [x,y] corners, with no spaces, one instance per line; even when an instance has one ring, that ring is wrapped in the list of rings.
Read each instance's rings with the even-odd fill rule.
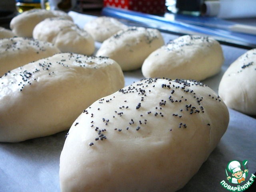
[[[128,9],[148,14],[166,12],[166,0],[103,0],[104,6]]]

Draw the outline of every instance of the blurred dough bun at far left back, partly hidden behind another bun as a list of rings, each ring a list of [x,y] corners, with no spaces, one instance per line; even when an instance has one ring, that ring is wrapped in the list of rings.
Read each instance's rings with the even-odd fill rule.
[[[73,20],[66,12],[60,10],[32,9],[15,16],[10,22],[10,29],[17,36],[32,37],[34,27],[42,20],[52,17]]]

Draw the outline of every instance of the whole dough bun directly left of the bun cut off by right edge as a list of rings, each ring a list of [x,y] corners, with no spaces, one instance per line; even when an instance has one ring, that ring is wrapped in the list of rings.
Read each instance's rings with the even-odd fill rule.
[[[204,80],[220,72],[224,56],[210,37],[181,36],[152,52],[142,65],[146,78],[165,77]]]

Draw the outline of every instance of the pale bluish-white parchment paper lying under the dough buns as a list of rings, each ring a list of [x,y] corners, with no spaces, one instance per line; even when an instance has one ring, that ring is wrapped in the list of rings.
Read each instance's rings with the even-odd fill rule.
[[[94,18],[70,14],[83,27]],[[163,34],[165,41],[177,36]],[[96,43],[99,48],[100,43]],[[228,66],[247,50],[222,46],[225,63],[222,71],[203,82],[218,92],[218,84]],[[141,70],[125,72],[125,85],[143,78]],[[179,192],[225,192],[225,168],[231,160],[248,160],[249,175],[256,171],[256,119],[229,109],[230,123],[216,149],[198,173]],[[0,143],[0,192],[60,192],[59,158],[67,131],[19,143]],[[188,157],[189,158],[189,157]]]

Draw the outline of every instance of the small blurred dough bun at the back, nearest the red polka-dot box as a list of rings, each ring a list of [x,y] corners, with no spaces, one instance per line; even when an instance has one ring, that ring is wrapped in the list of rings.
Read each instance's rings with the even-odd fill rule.
[[[122,24],[116,18],[100,16],[87,22],[84,25],[84,30],[90,33],[95,41],[103,42],[119,30],[125,29],[127,27],[128,26]]]

